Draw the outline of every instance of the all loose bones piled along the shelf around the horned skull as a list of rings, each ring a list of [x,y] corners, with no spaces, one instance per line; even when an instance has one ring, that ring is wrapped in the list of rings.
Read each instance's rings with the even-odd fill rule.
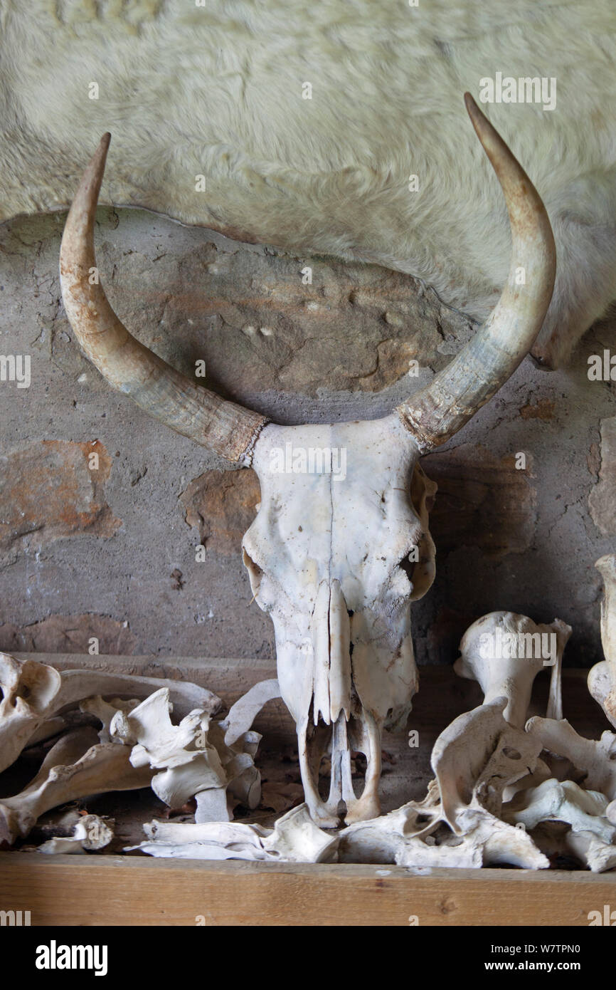
[[[616,555],[597,567],[605,582],[605,660],[590,670],[588,685],[616,727]],[[567,856],[593,871],[612,869],[616,735],[587,740],[562,718],[561,667],[571,632],[559,619],[537,625],[511,612],[474,623],[455,670],[479,682],[484,702],[438,737],[425,798],[339,831],[320,828],[307,804],[273,829],[231,820],[236,804],[259,804],[253,757],[260,736],[250,726],[279,696],[277,681],[255,685],[217,720],[220,699],[194,684],[58,673],[1,654],[0,767],[26,747],[57,739],[25,790],[0,801],[0,836],[24,838],[44,811],[76,798],[150,786],[171,808],[193,796],[197,803],[194,823],[144,825],[146,840],[129,849],[154,856],[528,869]],[[533,681],[544,667],[551,668],[547,717],[527,721]],[[84,724],[93,719],[98,731]],[[109,824],[91,815],[76,821],[72,836],[40,848],[83,852],[112,835]]]

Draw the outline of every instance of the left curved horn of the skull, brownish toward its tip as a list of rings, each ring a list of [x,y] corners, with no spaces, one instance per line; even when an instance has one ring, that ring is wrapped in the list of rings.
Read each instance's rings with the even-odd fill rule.
[[[66,219],[60,247],[64,309],[75,336],[114,388],[177,433],[247,464],[264,416],[225,402],[139,344],[98,284],[94,218],[111,135],[103,136],[86,168]],[[95,284],[91,284],[94,281]]]

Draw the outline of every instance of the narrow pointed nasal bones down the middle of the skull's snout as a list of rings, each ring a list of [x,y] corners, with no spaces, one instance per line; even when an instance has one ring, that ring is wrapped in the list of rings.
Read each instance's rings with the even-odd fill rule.
[[[337,578],[323,580],[312,613],[314,725],[333,725],[351,714],[351,624]]]

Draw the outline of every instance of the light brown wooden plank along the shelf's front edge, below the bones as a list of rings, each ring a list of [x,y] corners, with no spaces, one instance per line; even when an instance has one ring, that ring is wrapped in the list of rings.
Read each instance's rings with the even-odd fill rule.
[[[0,853],[0,909],[81,926],[583,926],[616,904],[586,872]]]

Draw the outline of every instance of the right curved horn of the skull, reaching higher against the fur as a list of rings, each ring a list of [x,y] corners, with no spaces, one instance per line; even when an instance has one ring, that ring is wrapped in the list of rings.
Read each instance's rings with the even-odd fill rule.
[[[513,374],[541,329],[554,289],[556,247],[541,197],[471,94],[464,98],[507,205],[511,264],[502,295],[473,340],[397,407],[422,452],[453,437]]]

